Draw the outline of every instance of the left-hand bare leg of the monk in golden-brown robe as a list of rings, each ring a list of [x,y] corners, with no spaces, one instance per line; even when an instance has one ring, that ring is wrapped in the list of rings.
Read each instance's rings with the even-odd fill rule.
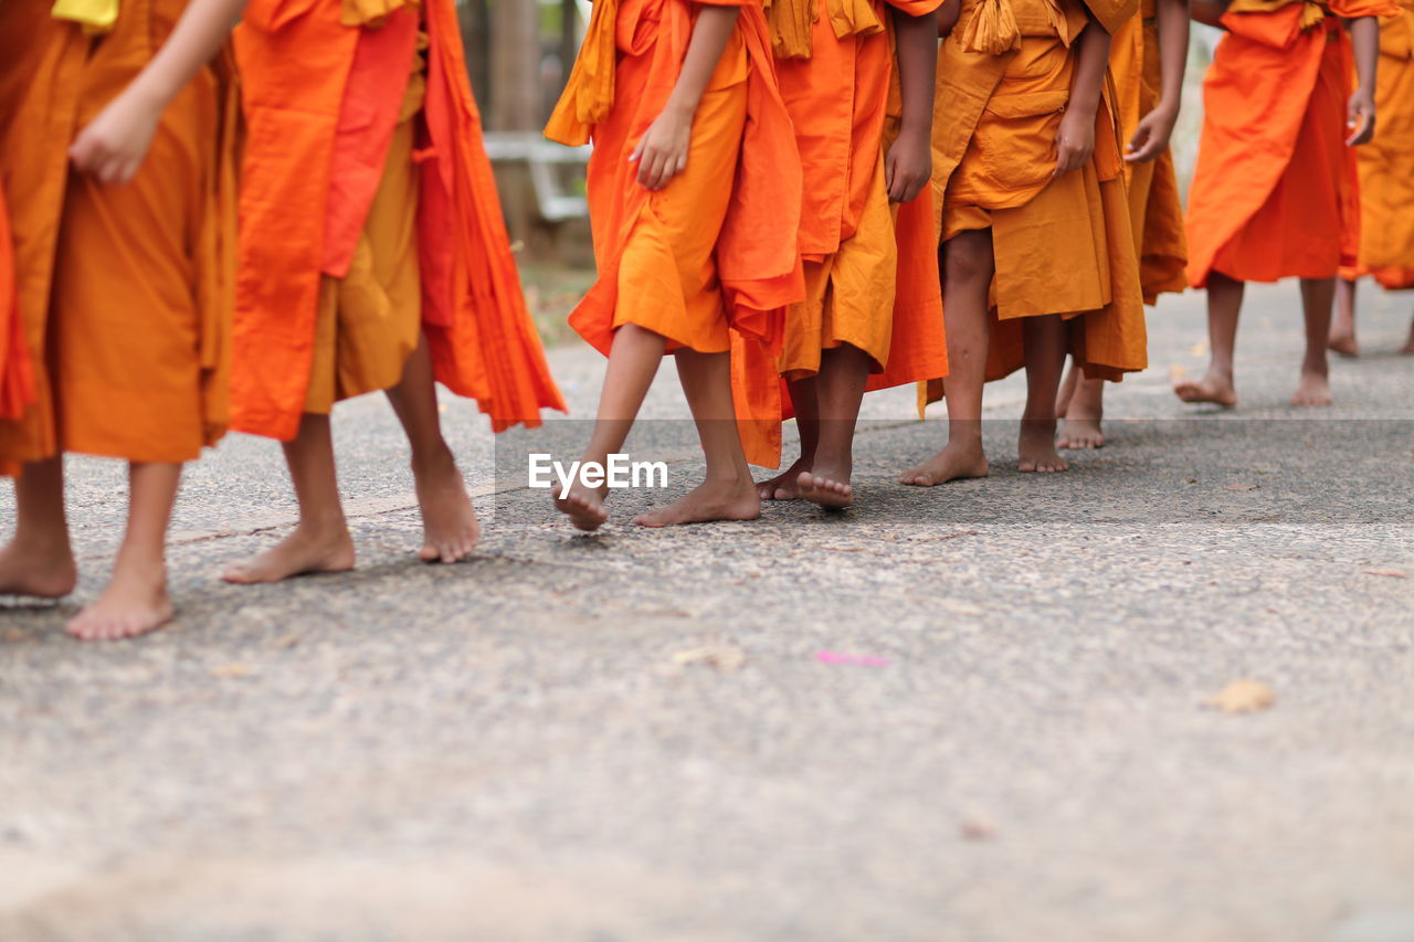
[[[957,478],[987,477],[981,447],[981,389],[987,375],[991,325],[987,294],[995,260],[991,229],[962,232],[940,249],[943,310],[947,318],[947,444],[899,475],[899,484],[933,487]]]

